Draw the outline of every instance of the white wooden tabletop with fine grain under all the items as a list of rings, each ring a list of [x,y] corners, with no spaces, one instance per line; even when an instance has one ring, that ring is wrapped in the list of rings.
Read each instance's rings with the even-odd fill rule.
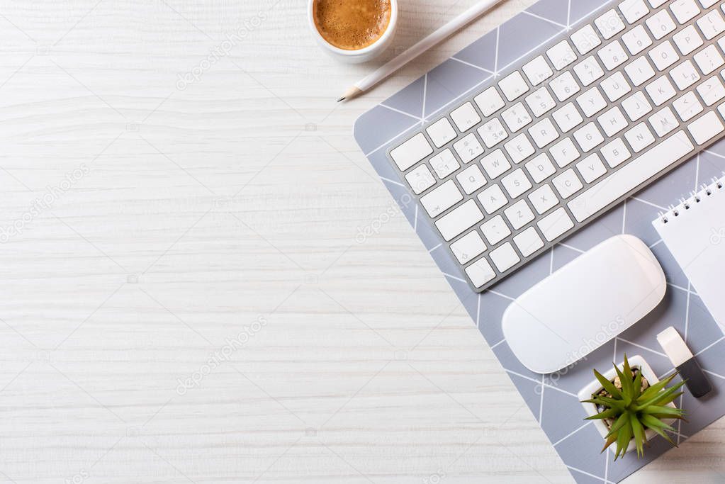
[[[532,0],[346,105],[305,3],[0,3],[0,482],[571,482],[351,135]]]

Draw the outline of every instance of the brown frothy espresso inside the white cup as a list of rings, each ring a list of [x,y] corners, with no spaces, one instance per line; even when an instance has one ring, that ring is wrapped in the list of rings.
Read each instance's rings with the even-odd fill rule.
[[[315,27],[332,45],[355,51],[381,38],[390,12],[390,0],[316,0]]]

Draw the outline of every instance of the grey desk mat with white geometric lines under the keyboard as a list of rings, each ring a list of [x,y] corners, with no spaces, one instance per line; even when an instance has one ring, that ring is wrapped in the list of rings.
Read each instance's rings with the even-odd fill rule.
[[[625,353],[642,355],[658,375],[673,371],[655,339],[668,326],[676,327],[687,339],[714,388],[704,399],[695,399],[686,392],[676,401],[687,410],[689,421],[676,425],[679,433],[675,440],[682,443],[725,414],[725,336],[652,226],[655,217],[669,204],[701,183],[709,182],[713,176],[721,175],[725,170],[725,142],[682,164],[495,285],[492,291],[481,294],[471,291],[461,278],[438,233],[411,201],[397,170],[386,157],[386,150],[405,141],[407,133],[436,117],[457,99],[483,91],[492,83],[494,72],[519,62],[537,46],[564,36],[567,26],[576,25],[591,12],[598,9],[604,12],[605,8],[615,5],[616,2],[600,0],[541,0],[365,112],[355,124],[355,138],[363,153],[578,483],[616,483],[670,448],[662,438],[655,438],[643,459],[630,453],[613,462],[609,452],[600,454],[602,437],[591,422],[584,422],[586,414],[576,396],[592,380],[593,368],[608,370],[613,361],[621,362]],[[663,303],[637,325],[573,367],[543,376],[526,370],[511,353],[501,331],[501,317],[510,301],[583,251],[618,233],[637,235],[659,259],[668,278]]]

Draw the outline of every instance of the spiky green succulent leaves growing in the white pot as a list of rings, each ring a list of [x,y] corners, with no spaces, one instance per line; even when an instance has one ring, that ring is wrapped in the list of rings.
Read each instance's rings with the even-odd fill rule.
[[[663,438],[676,446],[667,433],[674,433],[673,427],[663,422],[663,420],[682,419],[684,420],[684,410],[668,406],[683,392],[678,392],[684,381],[676,385],[666,388],[667,385],[676,377],[677,372],[664,378],[654,385],[642,388],[643,377],[642,372],[638,369],[634,371],[629,366],[627,356],[624,356],[624,368],[614,366],[620,385],[608,380],[600,372],[594,370],[597,380],[602,384],[603,391],[592,395],[592,399],[584,400],[582,403],[595,404],[600,413],[587,417],[585,420],[605,420],[610,422],[609,433],[606,436],[604,448],[605,451],[613,443],[617,443],[614,460],[619,456],[624,456],[629,443],[634,437],[634,444],[637,446],[637,457],[644,455],[644,446],[647,444],[645,430],[650,428],[662,435]],[[649,444],[647,444],[649,445]]]

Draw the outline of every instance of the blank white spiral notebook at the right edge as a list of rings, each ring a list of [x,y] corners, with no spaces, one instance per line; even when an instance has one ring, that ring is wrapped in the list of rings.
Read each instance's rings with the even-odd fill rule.
[[[653,222],[692,288],[725,330],[725,176],[692,192]]]

